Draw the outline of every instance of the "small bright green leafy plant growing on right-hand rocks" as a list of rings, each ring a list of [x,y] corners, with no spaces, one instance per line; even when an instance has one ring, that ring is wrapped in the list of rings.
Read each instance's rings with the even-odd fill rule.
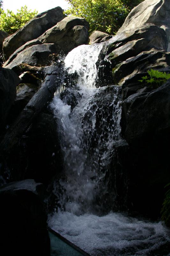
[[[151,85],[152,87],[159,87],[162,84],[166,82],[166,80],[170,79],[170,74],[167,74],[166,72],[160,72],[158,70],[148,70],[147,71],[148,76],[143,76],[141,80],[138,80],[139,82],[145,84],[145,85]]]

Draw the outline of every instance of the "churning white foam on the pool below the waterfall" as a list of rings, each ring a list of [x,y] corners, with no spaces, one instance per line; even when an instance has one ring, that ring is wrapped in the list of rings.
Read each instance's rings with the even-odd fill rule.
[[[138,220],[121,213],[106,216],[58,212],[48,225],[66,239],[94,256],[149,255],[170,241],[160,222]]]

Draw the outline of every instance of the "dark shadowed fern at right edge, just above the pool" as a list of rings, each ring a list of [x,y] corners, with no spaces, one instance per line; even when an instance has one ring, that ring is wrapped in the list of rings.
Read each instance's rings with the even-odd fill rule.
[[[166,185],[166,188],[170,188],[170,183]],[[165,194],[165,199],[161,210],[161,219],[166,226],[170,227],[170,189]]]

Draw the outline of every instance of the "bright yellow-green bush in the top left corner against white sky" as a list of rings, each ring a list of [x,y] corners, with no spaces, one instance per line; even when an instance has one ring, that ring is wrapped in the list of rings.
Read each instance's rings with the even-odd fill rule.
[[[31,20],[38,12],[34,10],[28,10],[27,6],[21,7],[20,10],[17,10],[17,13],[14,14],[12,11],[7,9],[5,12],[0,8],[0,29],[8,32],[9,34],[13,34],[19,28],[22,28],[26,22]]]

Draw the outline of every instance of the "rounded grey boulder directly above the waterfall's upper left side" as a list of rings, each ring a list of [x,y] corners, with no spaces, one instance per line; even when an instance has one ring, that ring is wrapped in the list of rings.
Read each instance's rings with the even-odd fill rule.
[[[89,23],[84,18],[66,17],[38,39],[43,44],[54,43],[64,52],[88,43]]]

